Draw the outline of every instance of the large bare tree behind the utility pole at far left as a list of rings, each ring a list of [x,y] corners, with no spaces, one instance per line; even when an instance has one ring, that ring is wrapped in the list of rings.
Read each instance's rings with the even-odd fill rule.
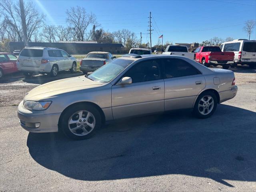
[[[14,39],[15,34],[17,40],[22,41],[22,19],[19,3],[14,3],[12,0],[3,0],[0,4],[0,8],[3,10],[4,21],[6,22],[7,28],[14,30],[13,32],[9,31],[8,35],[12,36]],[[34,35],[37,29],[42,27],[45,16],[36,10],[33,2],[24,3],[24,12],[28,41],[31,41],[32,35]]]

